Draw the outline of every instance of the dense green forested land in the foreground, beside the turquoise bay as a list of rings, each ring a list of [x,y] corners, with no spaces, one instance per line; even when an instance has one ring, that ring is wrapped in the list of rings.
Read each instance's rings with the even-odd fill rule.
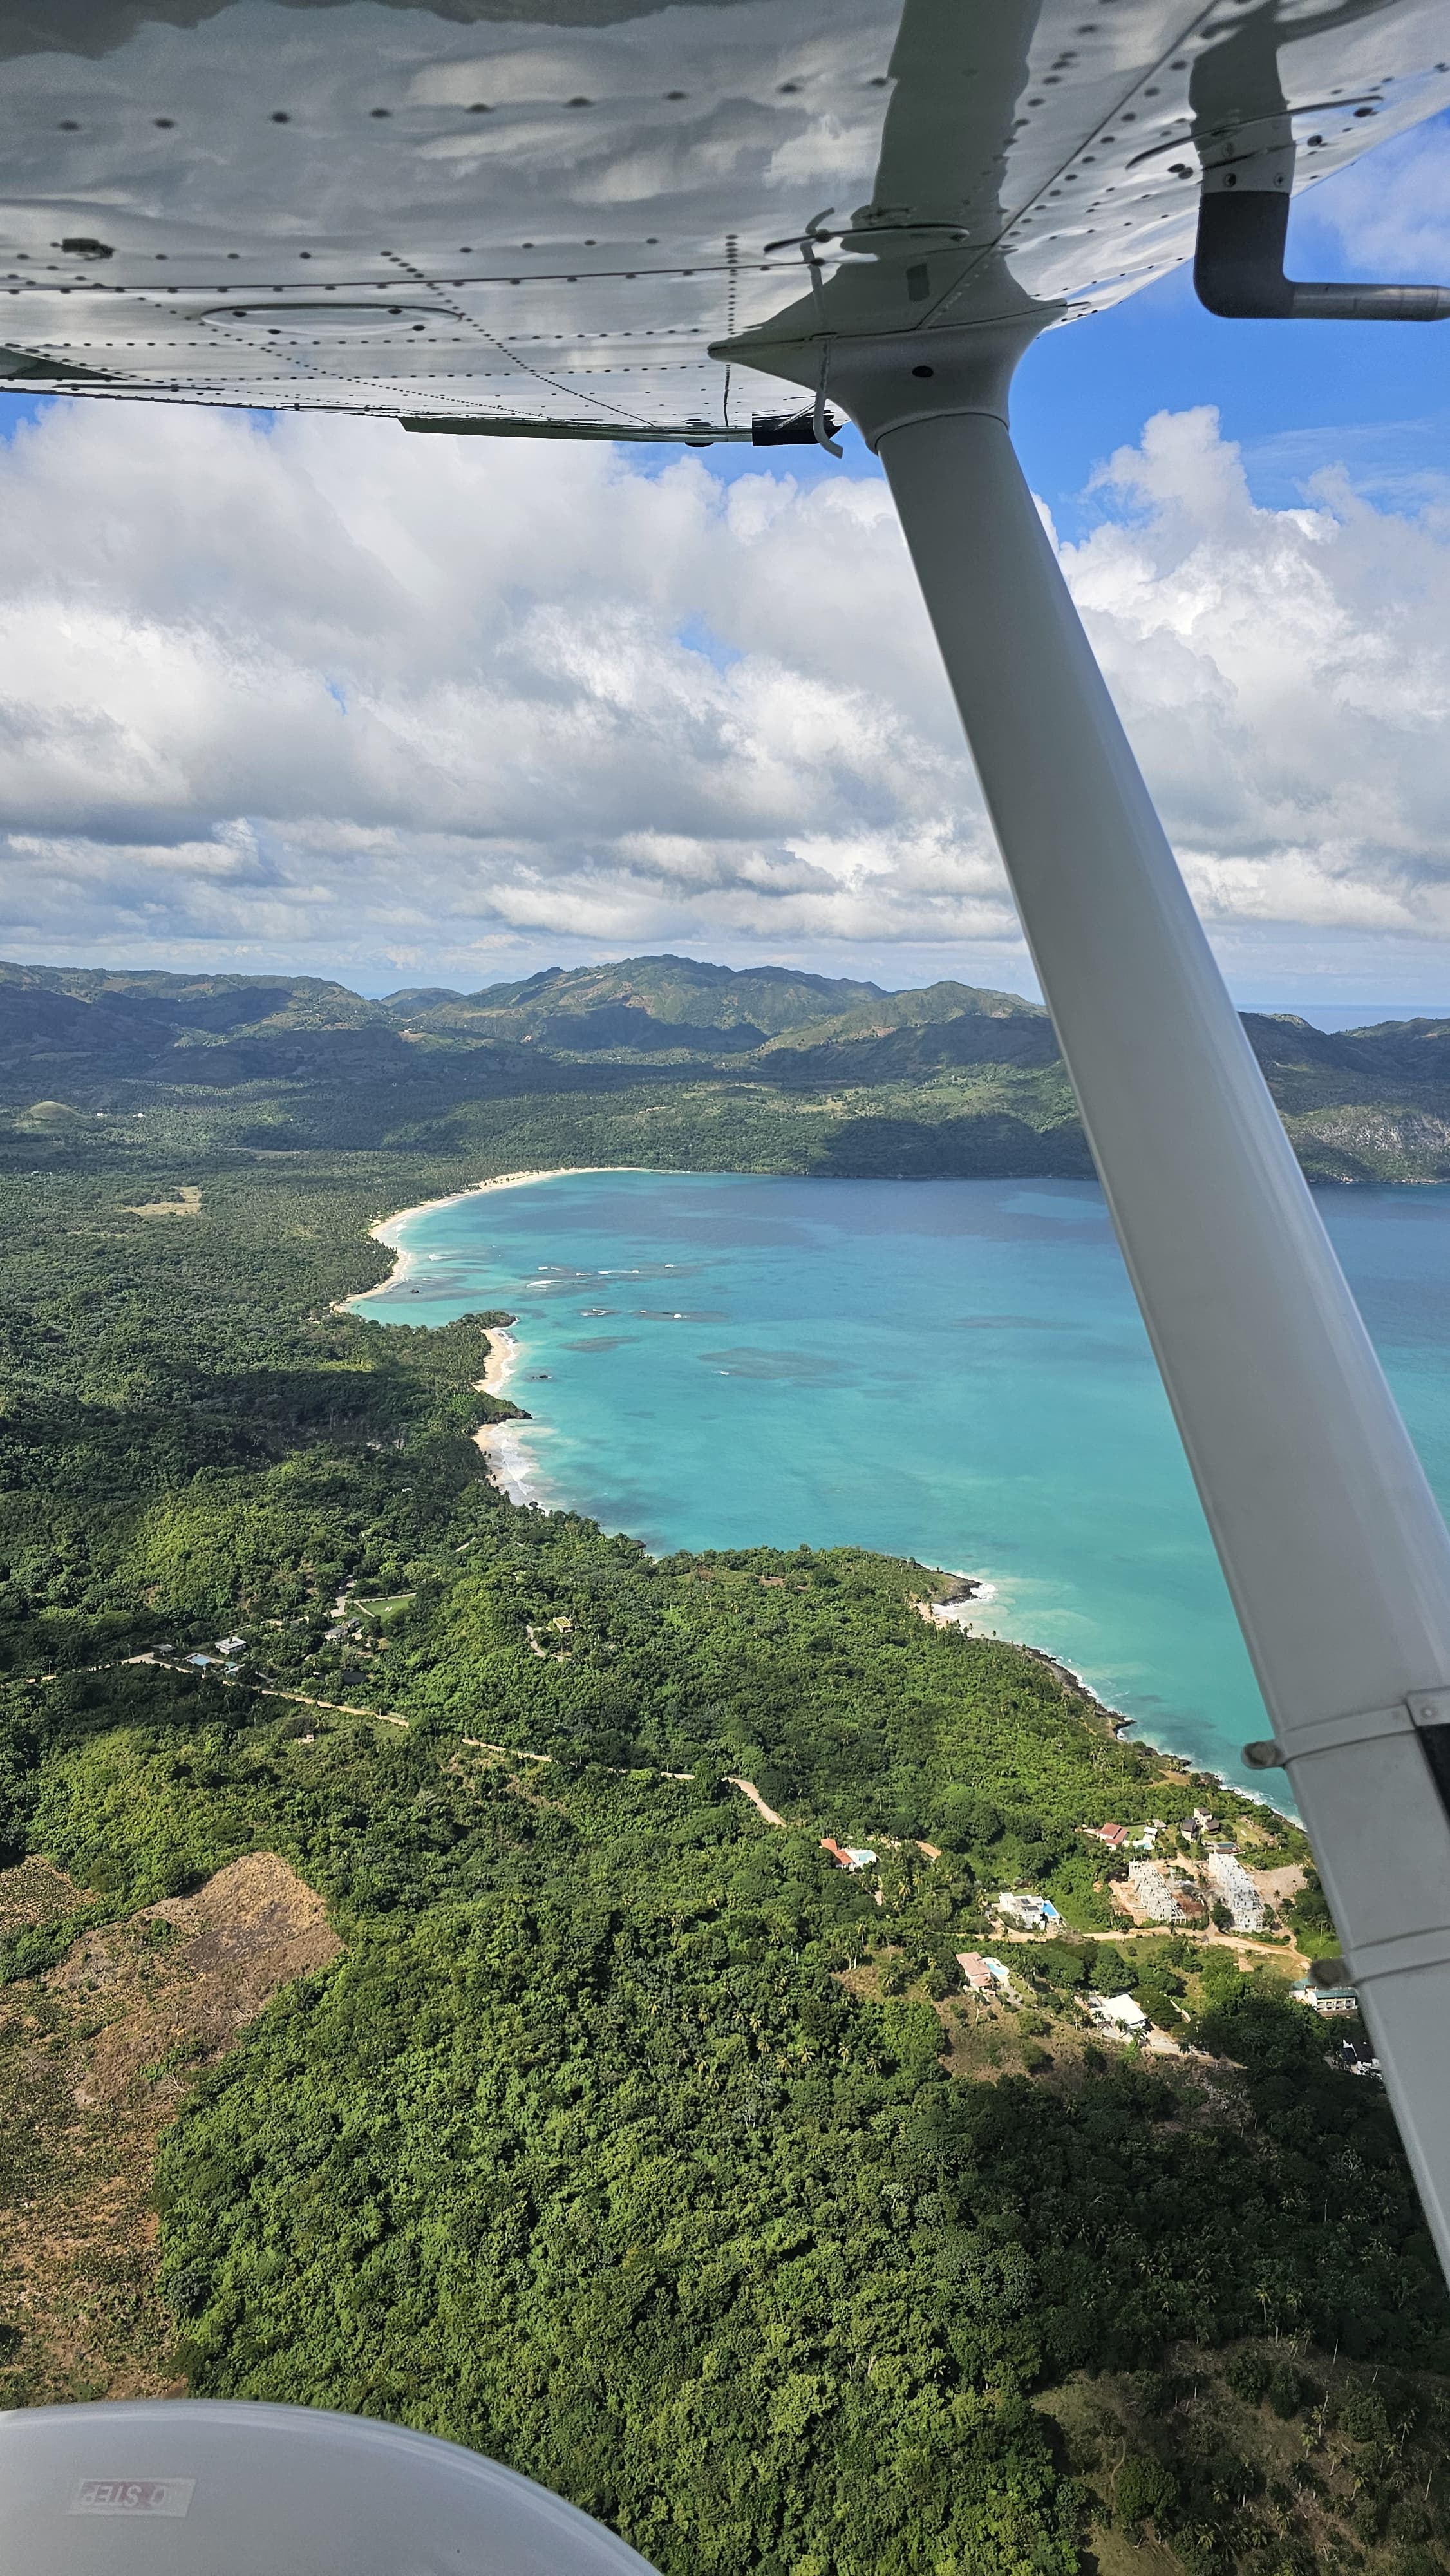
[[[474,1177],[196,1097],[0,1141],[5,2401],[379,2411],[670,2576],[1442,2571],[1450,2308],[1383,2094],[1288,1950],[1131,1940],[1082,1837],[1208,1788],[1298,1832],[927,1625],[919,1566],[507,1504],[489,1319],[335,1311],[376,1213]],[[229,1633],[232,1680],[185,1667]],[[100,1927],[144,1984],[268,1852],[343,1955],[139,2053],[80,2159]],[[1012,2007],[956,1968],[999,1883],[1066,1917]],[[1079,1994],[1133,1978],[1200,2056],[1095,2043]],[[152,2244],[103,2159],[157,2128]],[[106,2251],[62,2298],[67,2156]]]

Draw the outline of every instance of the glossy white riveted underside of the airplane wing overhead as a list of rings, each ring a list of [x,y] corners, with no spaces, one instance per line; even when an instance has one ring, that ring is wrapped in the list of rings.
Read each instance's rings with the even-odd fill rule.
[[[747,435],[783,312],[1071,322],[1226,139],[1311,185],[1445,57],[1440,0],[0,0],[0,384]]]

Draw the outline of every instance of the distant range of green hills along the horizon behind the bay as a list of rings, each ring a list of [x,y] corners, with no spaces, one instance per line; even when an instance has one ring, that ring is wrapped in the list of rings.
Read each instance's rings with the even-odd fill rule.
[[[1319,1182],[1450,1177],[1450,1020],[1326,1036],[1247,1012]],[[1051,1020],[1012,992],[623,958],[371,1002],[319,976],[0,963],[0,1133],[165,1115],[240,1154],[500,1151],[837,1177],[1092,1162]]]

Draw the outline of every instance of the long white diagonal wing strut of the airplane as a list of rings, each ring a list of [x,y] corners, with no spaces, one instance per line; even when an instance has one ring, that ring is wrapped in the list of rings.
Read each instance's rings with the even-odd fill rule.
[[[1033,327],[837,340],[832,389],[901,513],[1450,2272],[1450,1538],[1012,451]]]

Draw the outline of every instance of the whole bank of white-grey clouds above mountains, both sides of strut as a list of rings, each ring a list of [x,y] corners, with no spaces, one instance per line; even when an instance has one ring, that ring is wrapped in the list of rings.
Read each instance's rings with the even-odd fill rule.
[[[1210,925],[1442,940],[1450,526],[1262,510],[1210,412],[1097,500],[1064,569]],[[878,477],[54,404],[0,451],[0,832],[10,956],[1020,961]]]

